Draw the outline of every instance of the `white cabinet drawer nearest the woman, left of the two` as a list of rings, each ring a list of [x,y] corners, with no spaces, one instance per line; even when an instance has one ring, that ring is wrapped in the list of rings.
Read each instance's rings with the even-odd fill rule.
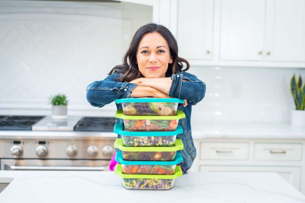
[[[201,142],[200,149],[201,159],[247,160],[249,154],[248,143]]]

